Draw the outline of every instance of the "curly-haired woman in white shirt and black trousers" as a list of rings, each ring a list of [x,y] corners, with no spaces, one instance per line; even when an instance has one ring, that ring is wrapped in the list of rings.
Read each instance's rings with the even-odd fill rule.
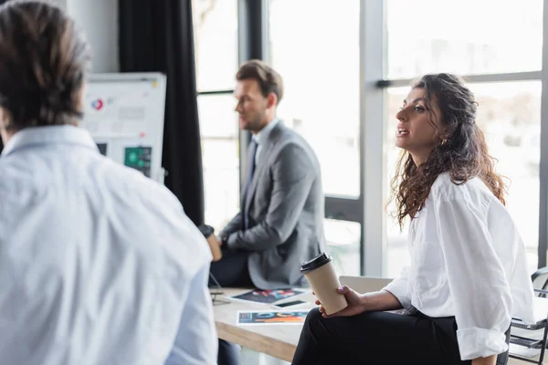
[[[533,321],[532,283],[477,106],[454,75],[412,86],[396,114],[392,182],[397,221],[411,220],[411,264],[378,292],[339,288],[349,306],[338,313],[312,309],[293,365],[507,363],[511,318]]]

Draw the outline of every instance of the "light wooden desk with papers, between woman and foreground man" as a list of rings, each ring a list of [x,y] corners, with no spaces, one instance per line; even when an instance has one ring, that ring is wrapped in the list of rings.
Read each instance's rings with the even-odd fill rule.
[[[227,296],[235,296],[245,293],[251,288],[223,288],[225,296],[218,296],[220,299],[226,299]],[[215,290],[212,290],[215,291]],[[290,309],[310,310],[316,307],[314,297],[309,294],[290,297],[282,302],[292,300],[304,300],[307,304],[290,307]],[[293,359],[293,354],[299,342],[300,329],[302,326],[279,325],[279,326],[237,326],[236,316],[238,310],[269,310],[279,309],[266,304],[246,303],[239,300],[231,301],[229,304],[214,303],[213,311],[215,314],[216,330],[220,339],[237,343],[248,349],[254,349],[258,352],[266,353],[275,358],[289,361]]]

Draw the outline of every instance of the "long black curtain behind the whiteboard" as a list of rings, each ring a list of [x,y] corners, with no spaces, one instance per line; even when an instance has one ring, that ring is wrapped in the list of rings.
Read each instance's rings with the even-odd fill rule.
[[[204,182],[195,85],[191,0],[120,0],[121,72],[167,76],[163,126],[165,185],[196,224],[204,223]]]

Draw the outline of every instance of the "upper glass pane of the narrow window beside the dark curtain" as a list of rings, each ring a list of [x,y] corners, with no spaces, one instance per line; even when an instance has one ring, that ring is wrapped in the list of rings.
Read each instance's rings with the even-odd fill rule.
[[[237,0],[192,0],[192,6],[197,89],[234,89]]]

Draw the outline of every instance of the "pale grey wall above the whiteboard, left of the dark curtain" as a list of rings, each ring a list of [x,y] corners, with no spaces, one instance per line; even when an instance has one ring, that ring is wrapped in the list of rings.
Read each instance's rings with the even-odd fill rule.
[[[118,0],[51,0],[64,7],[88,36],[93,72],[118,72]]]

